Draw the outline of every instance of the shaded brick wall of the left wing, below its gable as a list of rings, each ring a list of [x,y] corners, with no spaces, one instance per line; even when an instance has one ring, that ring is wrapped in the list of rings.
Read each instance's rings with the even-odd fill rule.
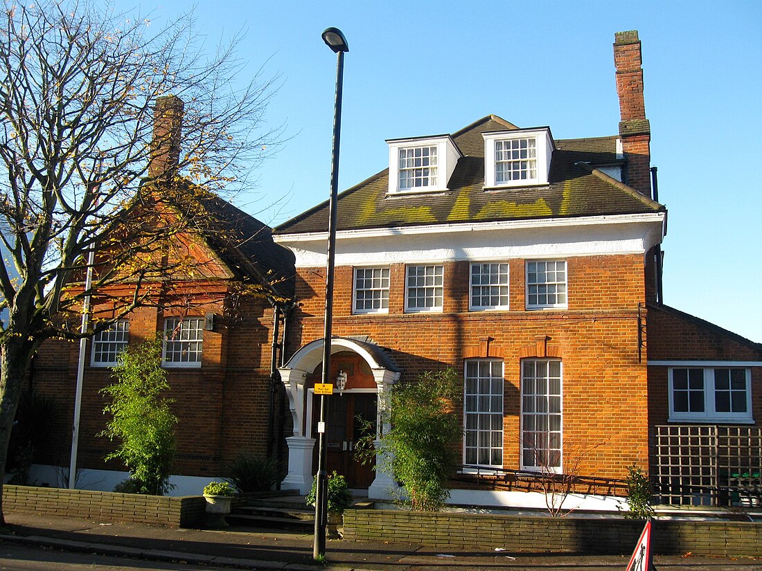
[[[270,394],[270,352],[273,309],[261,298],[239,296],[223,282],[199,282],[188,295],[193,306],[188,315],[215,314],[215,329],[203,332],[200,368],[168,368],[172,410],[179,418],[178,450],[173,474],[218,477],[240,451],[264,455],[267,451],[267,417]],[[176,299],[157,298],[169,308]],[[109,311],[96,308],[96,311]],[[166,316],[178,311],[143,307],[130,316],[130,343],[151,338],[164,327]],[[50,340],[34,358],[30,384],[56,398],[60,416],[53,427],[55,438],[35,458],[39,464],[69,465],[71,419],[75,393],[78,343]],[[110,368],[90,366],[86,356],[82,391],[82,416],[78,466],[123,470],[117,461],[104,462],[114,449],[98,436],[108,417],[101,389],[114,382]]]

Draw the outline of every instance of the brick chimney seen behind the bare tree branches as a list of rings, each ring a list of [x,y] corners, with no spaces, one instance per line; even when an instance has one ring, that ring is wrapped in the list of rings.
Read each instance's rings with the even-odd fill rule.
[[[148,174],[152,179],[171,180],[180,161],[183,102],[176,95],[157,97],[153,112],[153,139]]]

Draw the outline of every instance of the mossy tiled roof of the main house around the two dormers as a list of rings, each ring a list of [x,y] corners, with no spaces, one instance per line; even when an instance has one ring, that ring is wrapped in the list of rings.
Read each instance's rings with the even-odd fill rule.
[[[338,199],[338,230],[636,214],[664,209],[594,171],[596,165],[621,162],[616,158],[616,136],[555,140],[548,185],[485,190],[482,133],[507,129],[517,127],[489,115],[453,133],[463,158],[450,177],[447,191],[389,196],[388,168],[345,190]],[[328,201],[278,226],[274,234],[327,230]]]

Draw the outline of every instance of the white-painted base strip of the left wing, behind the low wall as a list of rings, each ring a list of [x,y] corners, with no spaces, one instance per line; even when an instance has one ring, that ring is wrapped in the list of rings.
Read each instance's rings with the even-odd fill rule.
[[[46,464],[33,464],[29,471],[29,480],[37,486],[62,487],[66,485],[60,475],[61,468]],[[126,480],[129,472],[114,470],[79,470],[77,488],[96,492],[113,492],[117,483]],[[222,477],[172,476],[169,483],[174,485],[168,496],[200,496],[207,483],[222,481]]]

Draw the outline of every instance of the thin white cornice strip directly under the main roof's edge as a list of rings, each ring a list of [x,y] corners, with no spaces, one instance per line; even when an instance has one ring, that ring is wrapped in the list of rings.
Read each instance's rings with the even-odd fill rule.
[[[647,214],[620,214],[609,216],[581,216],[576,218],[551,218],[529,220],[504,220],[499,222],[469,222],[466,224],[431,224],[420,226],[395,226],[392,228],[358,228],[357,230],[341,230],[336,232],[336,239],[347,238],[386,238],[389,236],[414,234],[453,234],[455,232],[520,230],[526,228],[570,228],[576,226],[655,223],[664,225],[665,212]],[[662,238],[664,234],[662,234]],[[328,232],[306,232],[303,234],[274,234],[277,244],[292,242],[312,242],[328,240]]]

